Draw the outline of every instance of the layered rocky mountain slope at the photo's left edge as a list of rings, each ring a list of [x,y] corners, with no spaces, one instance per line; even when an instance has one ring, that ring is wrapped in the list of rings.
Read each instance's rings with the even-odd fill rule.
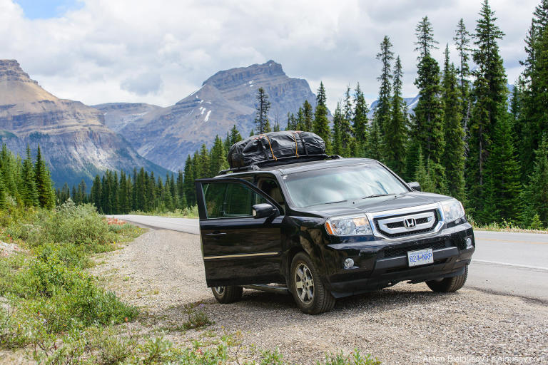
[[[146,168],[167,170],[138,155],[110,130],[101,110],[60,99],[44,90],[16,60],[0,60],[0,143],[24,155],[41,145],[56,186],[87,183],[98,173]]]

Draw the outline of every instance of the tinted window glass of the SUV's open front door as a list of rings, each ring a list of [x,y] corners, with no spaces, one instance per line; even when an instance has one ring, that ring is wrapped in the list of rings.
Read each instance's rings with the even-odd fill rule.
[[[208,218],[253,217],[253,205],[267,202],[239,183],[205,184],[203,191]]]

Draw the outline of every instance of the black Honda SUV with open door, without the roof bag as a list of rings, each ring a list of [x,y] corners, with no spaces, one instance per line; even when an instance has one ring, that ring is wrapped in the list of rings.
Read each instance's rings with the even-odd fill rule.
[[[458,200],[376,160],[252,166],[196,180],[196,192],[205,277],[221,303],[252,287],[290,292],[318,314],[403,280],[454,292],[475,251]]]

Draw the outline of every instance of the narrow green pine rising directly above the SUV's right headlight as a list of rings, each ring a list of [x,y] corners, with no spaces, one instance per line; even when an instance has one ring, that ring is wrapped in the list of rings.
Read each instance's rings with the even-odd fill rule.
[[[443,65],[443,106],[445,150],[442,163],[447,180],[447,193],[465,200],[465,130],[462,128],[462,90],[457,81],[457,70],[449,61],[449,45],[445,46]]]

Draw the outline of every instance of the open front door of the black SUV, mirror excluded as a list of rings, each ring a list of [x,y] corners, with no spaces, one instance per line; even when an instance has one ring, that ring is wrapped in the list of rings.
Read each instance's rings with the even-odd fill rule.
[[[283,210],[278,202],[237,178],[195,184],[208,287],[279,282]],[[273,214],[253,217],[253,206],[265,203]]]

